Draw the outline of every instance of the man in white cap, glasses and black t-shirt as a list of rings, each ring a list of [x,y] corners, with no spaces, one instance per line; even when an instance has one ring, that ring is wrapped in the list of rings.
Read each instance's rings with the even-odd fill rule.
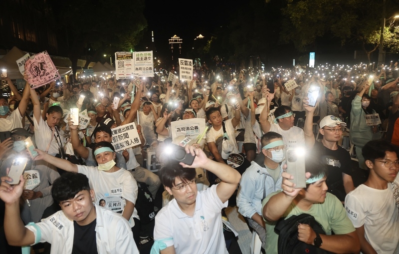
[[[322,164],[327,165],[328,192],[335,195],[342,203],[345,196],[355,189],[352,180],[351,156],[348,151],[337,145],[342,138],[343,127],[346,126],[339,118],[328,115],[320,121],[321,142],[316,142],[312,154]]]

